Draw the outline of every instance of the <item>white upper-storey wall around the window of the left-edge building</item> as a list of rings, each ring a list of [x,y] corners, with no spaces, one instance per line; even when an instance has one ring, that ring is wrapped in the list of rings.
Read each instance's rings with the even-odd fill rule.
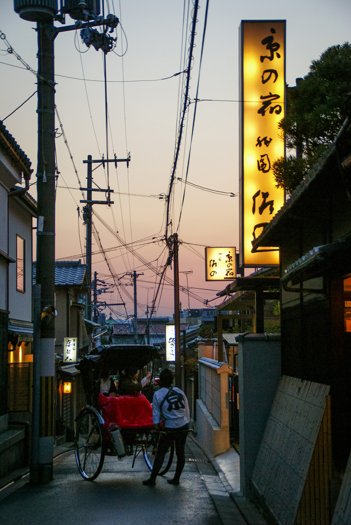
[[[32,320],[32,218],[12,197],[8,202],[9,256],[16,260],[16,236],[26,241],[25,293],[16,290],[16,264],[9,265],[9,317],[23,321]]]

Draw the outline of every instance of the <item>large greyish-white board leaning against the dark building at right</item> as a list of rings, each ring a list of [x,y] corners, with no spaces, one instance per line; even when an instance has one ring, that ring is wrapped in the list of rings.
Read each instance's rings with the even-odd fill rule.
[[[330,387],[282,376],[253,482],[278,523],[294,523]]]

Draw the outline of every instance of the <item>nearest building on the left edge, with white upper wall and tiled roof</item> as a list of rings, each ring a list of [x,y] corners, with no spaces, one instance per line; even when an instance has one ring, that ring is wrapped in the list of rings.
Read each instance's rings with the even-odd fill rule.
[[[37,213],[27,192],[30,166],[0,121],[0,476],[24,466],[29,446],[32,218]],[[11,424],[20,421],[28,423]]]

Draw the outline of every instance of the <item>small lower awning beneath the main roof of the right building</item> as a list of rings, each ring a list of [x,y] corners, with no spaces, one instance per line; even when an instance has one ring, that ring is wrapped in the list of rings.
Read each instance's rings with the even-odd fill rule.
[[[312,248],[284,270],[281,282],[286,286],[291,281],[291,285],[294,286],[315,277],[327,276],[336,279],[350,272],[351,239],[340,239],[335,243]]]

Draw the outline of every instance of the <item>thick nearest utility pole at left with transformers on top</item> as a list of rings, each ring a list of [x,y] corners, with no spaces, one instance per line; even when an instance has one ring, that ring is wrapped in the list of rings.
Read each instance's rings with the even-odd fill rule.
[[[37,265],[35,292],[35,314],[40,315],[40,322],[34,319],[34,401],[36,414],[32,424],[32,456],[30,464],[30,482],[46,483],[52,479],[53,444],[54,444],[54,304],[55,291],[55,82],[54,82],[54,39],[61,31],[86,29],[86,45],[93,44],[96,36],[93,26],[115,28],[118,18],[108,15],[107,19],[97,16],[100,2],[95,0],[92,11],[86,10],[87,3],[80,0],[74,5],[64,6],[64,13],[77,19],[71,26],[55,27],[53,20],[64,24],[64,13],[58,13],[54,0],[15,0],[15,11],[30,22],[37,23],[38,33],[38,227],[37,227]],[[82,20],[93,20],[85,22]],[[105,32],[106,32],[105,31]],[[96,31],[97,33],[97,31]],[[96,49],[104,48],[107,53],[112,38],[101,34]],[[41,292],[39,298],[39,292]],[[40,308],[39,308],[40,303]],[[40,311],[39,311],[40,310]]]

